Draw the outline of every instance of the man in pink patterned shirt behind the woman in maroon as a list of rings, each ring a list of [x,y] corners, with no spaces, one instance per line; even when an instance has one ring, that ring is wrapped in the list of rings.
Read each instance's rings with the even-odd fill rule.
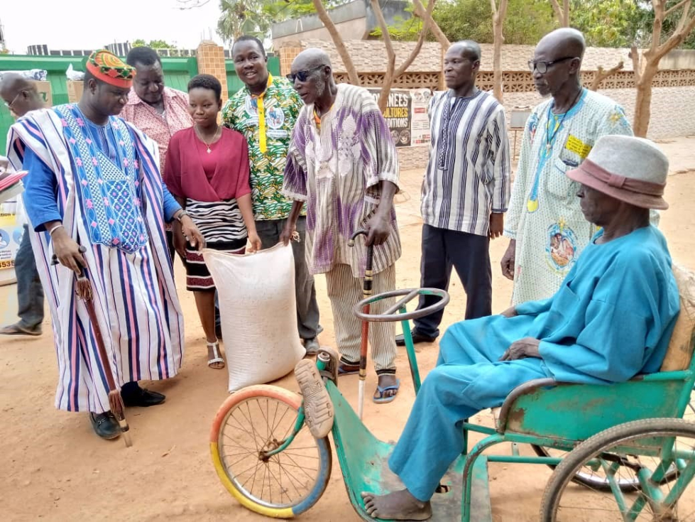
[[[121,117],[157,142],[160,173],[163,173],[171,136],[193,125],[188,114],[188,94],[164,86],[162,61],[155,50],[134,47],[128,53],[126,63],[135,67],[136,76]],[[173,260],[174,246],[170,227],[167,227],[166,232],[169,254]]]

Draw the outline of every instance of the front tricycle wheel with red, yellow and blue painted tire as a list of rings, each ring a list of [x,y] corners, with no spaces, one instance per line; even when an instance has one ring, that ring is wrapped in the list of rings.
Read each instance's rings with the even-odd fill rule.
[[[264,516],[292,518],[310,509],[328,485],[328,437],[314,439],[303,425],[282,452],[302,398],[277,386],[248,386],[232,394],[215,416],[210,450],[217,474],[244,507]]]

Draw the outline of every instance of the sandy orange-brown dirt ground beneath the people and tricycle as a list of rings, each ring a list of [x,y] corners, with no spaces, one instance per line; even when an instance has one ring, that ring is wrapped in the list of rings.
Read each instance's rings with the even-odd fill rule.
[[[672,158],[666,198],[671,209],[662,214],[661,228],[675,260],[695,268],[695,136],[662,142]],[[402,175],[405,194],[397,197],[403,256],[397,264],[400,288],[417,286],[420,279],[421,171]],[[493,311],[507,308],[511,283],[500,273],[506,239],[493,241]],[[177,283],[184,287],[177,263]],[[325,280],[317,278],[322,312],[322,344],[334,346],[332,313]],[[464,315],[464,293],[452,280],[452,302],[444,327]],[[241,508],[219,482],[209,457],[210,425],[227,397],[227,372],[208,369],[202,329],[190,293],[180,291],[186,319],[187,353],[180,374],[170,381],[144,383],[166,393],[156,408],[128,410],[133,447],[121,440],[99,440],[87,414],[53,408],[56,363],[48,317],[44,334],[36,339],[0,338],[0,518],[6,521],[76,521],[87,518],[121,521],[261,521]],[[0,324],[14,320],[16,286],[0,287]],[[437,357],[436,344],[420,345],[420,371],[426,374]],[[228,364],[234,364],[229,361]],[[402,381],[396,401],[387,405],[366,402],[366,425],[381,440],[395,440],[414,398],[401,350],[398,371]],[[297,390],[292,376],[278,381]],[[368,390],[376,385],[369,374]],[[341,380],[341,391],[356,404],[357,378]],[[489,413],[476,419],[490,423]],[[491,464],[491,496],[496,521],[533,521],[549,470],[540,466]],[[358,521],[342,484],[339,465],[328,489],[304,521]]]

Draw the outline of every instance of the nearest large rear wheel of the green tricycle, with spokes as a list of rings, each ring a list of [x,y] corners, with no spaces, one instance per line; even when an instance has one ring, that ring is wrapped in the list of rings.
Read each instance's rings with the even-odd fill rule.
[[[664,466],[677,468],[674,482],[660,480]],[[695,425],[692,423],[655,418],[617,425],[585,440],[558,464],[545,488],[540,520],[693,520],[694,467]],[[615,479],[612,494],[587,484],[586,487],[571,484],[587,468],[601,468],[605,477]],[[621,491],[618,484],[623,480],[636,481],[641,487],[631,492]]]

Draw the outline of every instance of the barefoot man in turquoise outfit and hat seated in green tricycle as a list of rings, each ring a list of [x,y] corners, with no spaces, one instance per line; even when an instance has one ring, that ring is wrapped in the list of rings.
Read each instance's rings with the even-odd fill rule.
[[[667,173],[659,148],[628,136],[600,138],[567,172],[567,190],[579,182],[581,212],[601,229],[552,298],[449,327],[389,460],[407,489],[363,493],[371,516],[429,518],[429,499],[463,450],[461,423],[516,386],[547,377],[611,384],[659,371],[679,312],[666,241],[650,224],[650,209],[668,207]]]

